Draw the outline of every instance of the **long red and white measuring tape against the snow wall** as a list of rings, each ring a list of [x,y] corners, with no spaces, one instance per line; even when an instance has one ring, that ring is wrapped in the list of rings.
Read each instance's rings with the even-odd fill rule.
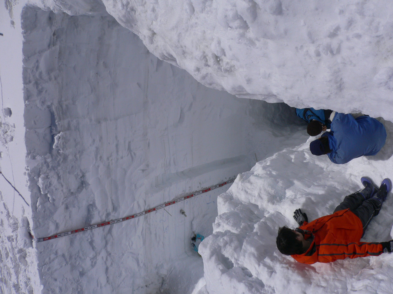
[[[84,228],[80,228],[80,229],[77,229],[77,230],[72,230],[72,231],[64,232],[64,233],[61,233],[61,234],[55,234],[55,235],[52,235],[52,236],[49,236],[49,237],[35,238],[34,240],[35,240],[36,242],[48,241],[48,240],[60,238],[60,237],[63,237],[63,236],[68,236],[68,235],[72,235],[72,234],[75,234],[75,233],[79,233],[79,232],[82,232],[82,231],[92,230],[92,229],[95,229],[95,228],[104,227],[104,226],[106,226],[106,225],[112,225],[112,224],[114,224],[114,223],[120,223],[120,222],[122,222],[122,221],[130,220],[130,219],[132,219],[132,218],[137,218],[138,216],[142,216],[142,215],[147,214],[147,213],[149,213],[149,212],[153,212],[153,211],[156,211],[156,210],[158,210],[158,209],[162,209],[162,208],[167,207],[167,206],[169,206],[169,205],[172,205],[172,204],[174,204],[174,203],[178,203],[178,202],[183,201],[183,200],[185,200],[185,199],[189,199],[189,198],[194,197],[194,196],[196,196],[196,195],[199,195],[199,194],[202,194],[202,193],[206,193],[206,192],[209,192],[209,191],[211,191],[211,190],[213,190],[213,189],[222,187],[222,186],[224,186],[224,185],[226,185],[226,184],[232,183],[233,181],[235,181],[235,179],[228,180],[228,181],[226,181],[226,182],[224,182],[224,183],[215,185],[215,186],[210,187],[210,188],[205,189],[205,190],[200,190],[200,191],[198,191],[198,192],[196,192],[196,193],[194,193],[194,194],[191,194],[191,195],[188,195],[188,196],[185,196],[185,197],[182,197],[182,198],[178,198],[178,199],[176,199],[176,200],[174,200],[174,201],[171,201],[171,202],[162,204],[162,205],[157,206],[157,207],[154,207],[154,208],[152,208],[152,209],[148,209],[148,210],[146,210],[146,211],[142,211],[142,212],[133,214],[133,215],[131,215],[131,216],[126,216],[125,218],[118,218],[117,220],[105,221],[105,222],[103,222],[103,223],[97,223],[96,225],[91,225],[91,226],[88,226],[88,227],[84,227]]]

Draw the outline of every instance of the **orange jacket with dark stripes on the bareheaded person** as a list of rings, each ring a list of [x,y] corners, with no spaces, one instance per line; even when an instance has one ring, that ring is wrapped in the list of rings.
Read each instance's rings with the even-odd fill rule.
[[[378,256],[384,251],[381,243],[360,242],[363,225],[349,209],[317,218],[310,223],[304,222],[299,229],[305,230],[306,240],[312,240],[304,254],[291,255],[301,263],[327,263],[347,257]]]

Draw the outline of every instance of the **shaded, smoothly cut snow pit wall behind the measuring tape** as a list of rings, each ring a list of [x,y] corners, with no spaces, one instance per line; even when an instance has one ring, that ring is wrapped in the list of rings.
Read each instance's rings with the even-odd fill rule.
[[[202,86],[111,16],[26,7],[22,29],[36,237],[155,207],[308,138],[294,109]],[[42,293],[196,292],[203,264],[190,237],[213,232],[226,189],[36,243]]]

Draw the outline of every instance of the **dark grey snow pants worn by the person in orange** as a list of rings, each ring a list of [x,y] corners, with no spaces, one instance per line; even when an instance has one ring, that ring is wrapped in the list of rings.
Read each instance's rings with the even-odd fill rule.
[[[362,221],[363,235],[374,216],[378,215],[382,203],[381,201],[370,198],[372,188],[365,188],[351,195],[348,195],[334,209],[334,212],[349,208]],[[362,236],[363,236],[362,235]]]

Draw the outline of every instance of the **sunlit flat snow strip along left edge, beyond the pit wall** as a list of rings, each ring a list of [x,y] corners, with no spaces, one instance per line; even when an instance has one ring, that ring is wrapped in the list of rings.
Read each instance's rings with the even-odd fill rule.
[[[22,32],[0,7],[0,170],[30,203],[25,162]],[[0,175],[0,293],[39,293],[31,209]]]

